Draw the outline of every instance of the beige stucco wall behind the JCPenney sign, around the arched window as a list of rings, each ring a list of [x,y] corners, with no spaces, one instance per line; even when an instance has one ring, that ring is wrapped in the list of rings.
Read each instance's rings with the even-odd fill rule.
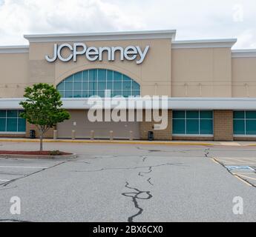
[[[60,81],[81,70],[91,68],[108,68],[119,71],[141,85],[142,96],[163,94],[171,96],[171,41],[170,39],[151,40],[122,40],[122,41],[86,41],[87,47],[127,47],[138,45],[144,50],[150,45],[145,60],[142,64],[135,61],[120,61],[116,53],[116,61],[106,60],[106,53],[103,53],[103,61],[88,61],[85,56],[78,56],[76,62],[68,61],[49,63],[45,55],[53,53],[53,42],[31,43],[30,44],[30,83],[45,82],[59,84]],[[71,42],[70,42],[71,44]],[[65,51],[63,52],[65,55]]]

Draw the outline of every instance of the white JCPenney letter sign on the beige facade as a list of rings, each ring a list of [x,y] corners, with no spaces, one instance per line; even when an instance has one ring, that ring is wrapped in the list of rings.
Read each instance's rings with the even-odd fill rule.
[[[70,54],[64,57],[62,56],[62,50],[69,50]],[[45,56],[45,59],[49,62],[56,61],[76,61],[77,56],[85,56],[89,61],[102,61],[103,53],[107,53],[108,61],[115,61],[116,53],[119,53],[119,59],[124,61],[136,60],[137,64],[141,64],[144,61],[145,56],[147,55],[149,46],[146,46],[144,50],[141,50],[139,46],[128,46],[128,47],[87,47],[83,43],[74,43],[71,44],[54,44],[53,47],[53,57]]]

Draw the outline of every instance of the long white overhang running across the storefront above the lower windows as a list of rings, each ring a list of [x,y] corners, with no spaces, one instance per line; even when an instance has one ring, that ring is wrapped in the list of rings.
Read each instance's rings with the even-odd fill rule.
[[[0,99],[0,110],[22,110],[19,105],[24,99]],[[120,102],[122,101],[122,102]],[[88,110],[94,104],[102,102],[103,108],[109,109],[119,104],[120,108],[137,109],[148,108],[151,103],[153,108],[168,108],[169,110],[256,110],[256,98],[166,98],[153,100],[147,98],[133,99],[62,99],[63,108],[67,110]],[[105,106],[108,104],[108,106]]]

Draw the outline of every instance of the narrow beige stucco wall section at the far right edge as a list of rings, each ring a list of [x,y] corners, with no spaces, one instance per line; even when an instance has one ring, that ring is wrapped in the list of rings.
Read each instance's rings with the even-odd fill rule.
[[[256,97],[256,58],[232,58],[232,96]]]

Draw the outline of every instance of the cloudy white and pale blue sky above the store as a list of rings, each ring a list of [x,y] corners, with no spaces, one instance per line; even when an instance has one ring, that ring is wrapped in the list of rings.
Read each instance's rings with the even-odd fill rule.
[[[237,38],[256,48],[255,0],[0,0],[0,45],[27,33],[177,30],[177,39]]]

